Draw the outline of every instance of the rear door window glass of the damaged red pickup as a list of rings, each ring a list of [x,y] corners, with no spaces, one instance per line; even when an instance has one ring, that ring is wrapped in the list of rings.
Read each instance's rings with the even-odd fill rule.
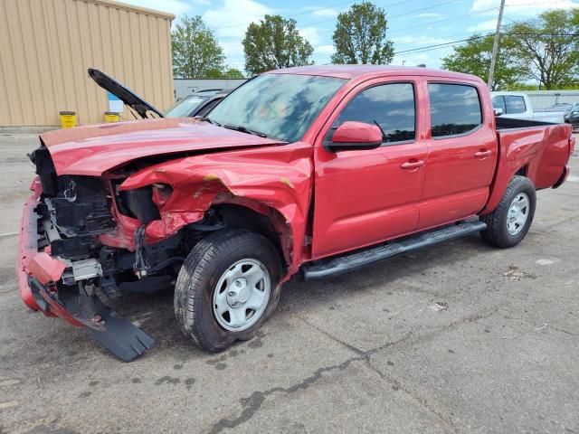
[[[428,83],[432,138],[464,136],[482,125],[479,91],[459,83]]]

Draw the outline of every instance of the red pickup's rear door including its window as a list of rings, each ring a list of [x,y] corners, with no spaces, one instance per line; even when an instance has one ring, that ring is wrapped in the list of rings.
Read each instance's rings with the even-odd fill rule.
[[[498,154],[490,101],[483,104],[476,85],[432,80],[424,86],[430,106],[428,165],[418,230],[482,210]]]

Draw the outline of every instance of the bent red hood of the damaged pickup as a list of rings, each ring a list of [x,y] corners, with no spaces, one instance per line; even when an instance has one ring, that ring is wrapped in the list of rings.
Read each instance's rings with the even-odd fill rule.
[[[147,156],[271,146],[252,136],[194,118],[162,118],[57,129],[42,134],[58,175],[100,176]]]

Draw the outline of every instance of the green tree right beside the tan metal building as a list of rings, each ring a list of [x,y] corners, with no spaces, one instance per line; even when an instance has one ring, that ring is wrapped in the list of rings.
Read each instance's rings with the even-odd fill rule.
[[[208,71],[223,71],[223,48],[201,16],[183,15],[171,33],[173,75],[182,79],[207,76]]]

